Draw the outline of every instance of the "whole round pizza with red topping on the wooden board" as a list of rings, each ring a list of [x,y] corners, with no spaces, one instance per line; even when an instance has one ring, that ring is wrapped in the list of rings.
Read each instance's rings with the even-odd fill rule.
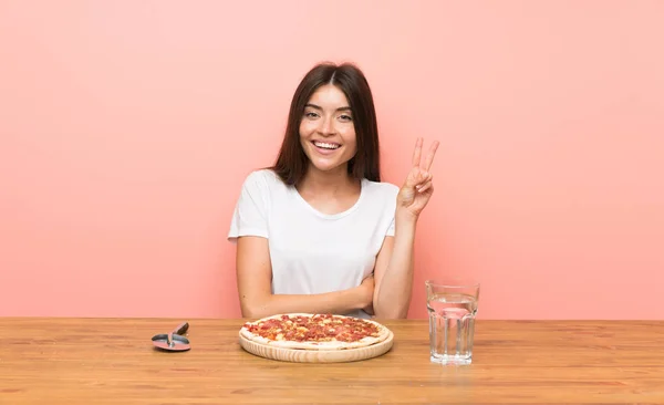
[[[347,350],[383,342],[390,330],[378,322],[334,314],[291,313],[247,322],[240,335],[274,347]]]

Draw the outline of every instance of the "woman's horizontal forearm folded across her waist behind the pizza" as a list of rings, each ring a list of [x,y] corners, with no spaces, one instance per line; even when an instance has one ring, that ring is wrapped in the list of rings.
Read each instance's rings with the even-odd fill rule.
[[[357,288],[320,294],[269,294],[242,305],[246,318],[264,318],[279,313],[347,313],[365,305]]]

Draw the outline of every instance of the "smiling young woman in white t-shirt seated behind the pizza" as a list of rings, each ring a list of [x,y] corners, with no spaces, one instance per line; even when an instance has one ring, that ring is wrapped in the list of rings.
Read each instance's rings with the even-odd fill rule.
[[[277,163],[246,178],[235,208],[242,315],[405,318],[437,147],[423,156],[418,138],[401,188],[381,183],[365,76],[353,64],[314,66],[293,95]]]

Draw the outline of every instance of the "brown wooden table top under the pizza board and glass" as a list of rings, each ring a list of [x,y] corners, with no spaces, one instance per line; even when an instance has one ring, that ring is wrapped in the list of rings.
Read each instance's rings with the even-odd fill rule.
[[[655,404],[664,322],[478,321],[474,363],[428,359],[424,320],[386,321],[395,343],[355,363],[264,360],[242,320],[189,320],[189,352],[153,349],[183,320],[0,319],[0,404]]]

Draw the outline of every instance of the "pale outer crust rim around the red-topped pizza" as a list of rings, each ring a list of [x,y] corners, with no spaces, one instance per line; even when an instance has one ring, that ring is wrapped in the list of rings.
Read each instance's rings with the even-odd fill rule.
[[[297,318],[297,316],[313,318],[313,316],[320,315],[320,314],[312,314],[312,313],[277,314],[277,315],[266,316],[266,318],[259,319],[253,322],[247,322],[247,324],[260,325],[260,324],[264,323],[266,321],[269,321],[272,319],[281,320],[281,318],[283,315],[288,315],[291,318]],[[390,336],[390,330],[376,321],[353,318],[353,316],[345,316],[345,315],[336,315],[336,314],[334,314],[332,316],[333,316],[333,319],[354,319],[354,320],[359,320],[361,322],[371,323],[376,326],[378,335],[377,336],[364,336],[361,340],[355,341],[355,342],[343,342],[343,341],[326,341],[326,342],[302,341],[302,342],[298,342],[298,341],[287,341],[287,340],[270,340],[270,339],[263,338],[259,334],[250,332],[246,328],[246,325],[242,325],[242,328],[240,329],[240,335],[249,341],[269,345],[269,346],[273,346],[273,347],[293,349],[293,350],[315,350],[315,351],[338,351],[338,350],[366,347],[366,346],[371,346],[371,345],[381,343]]]

